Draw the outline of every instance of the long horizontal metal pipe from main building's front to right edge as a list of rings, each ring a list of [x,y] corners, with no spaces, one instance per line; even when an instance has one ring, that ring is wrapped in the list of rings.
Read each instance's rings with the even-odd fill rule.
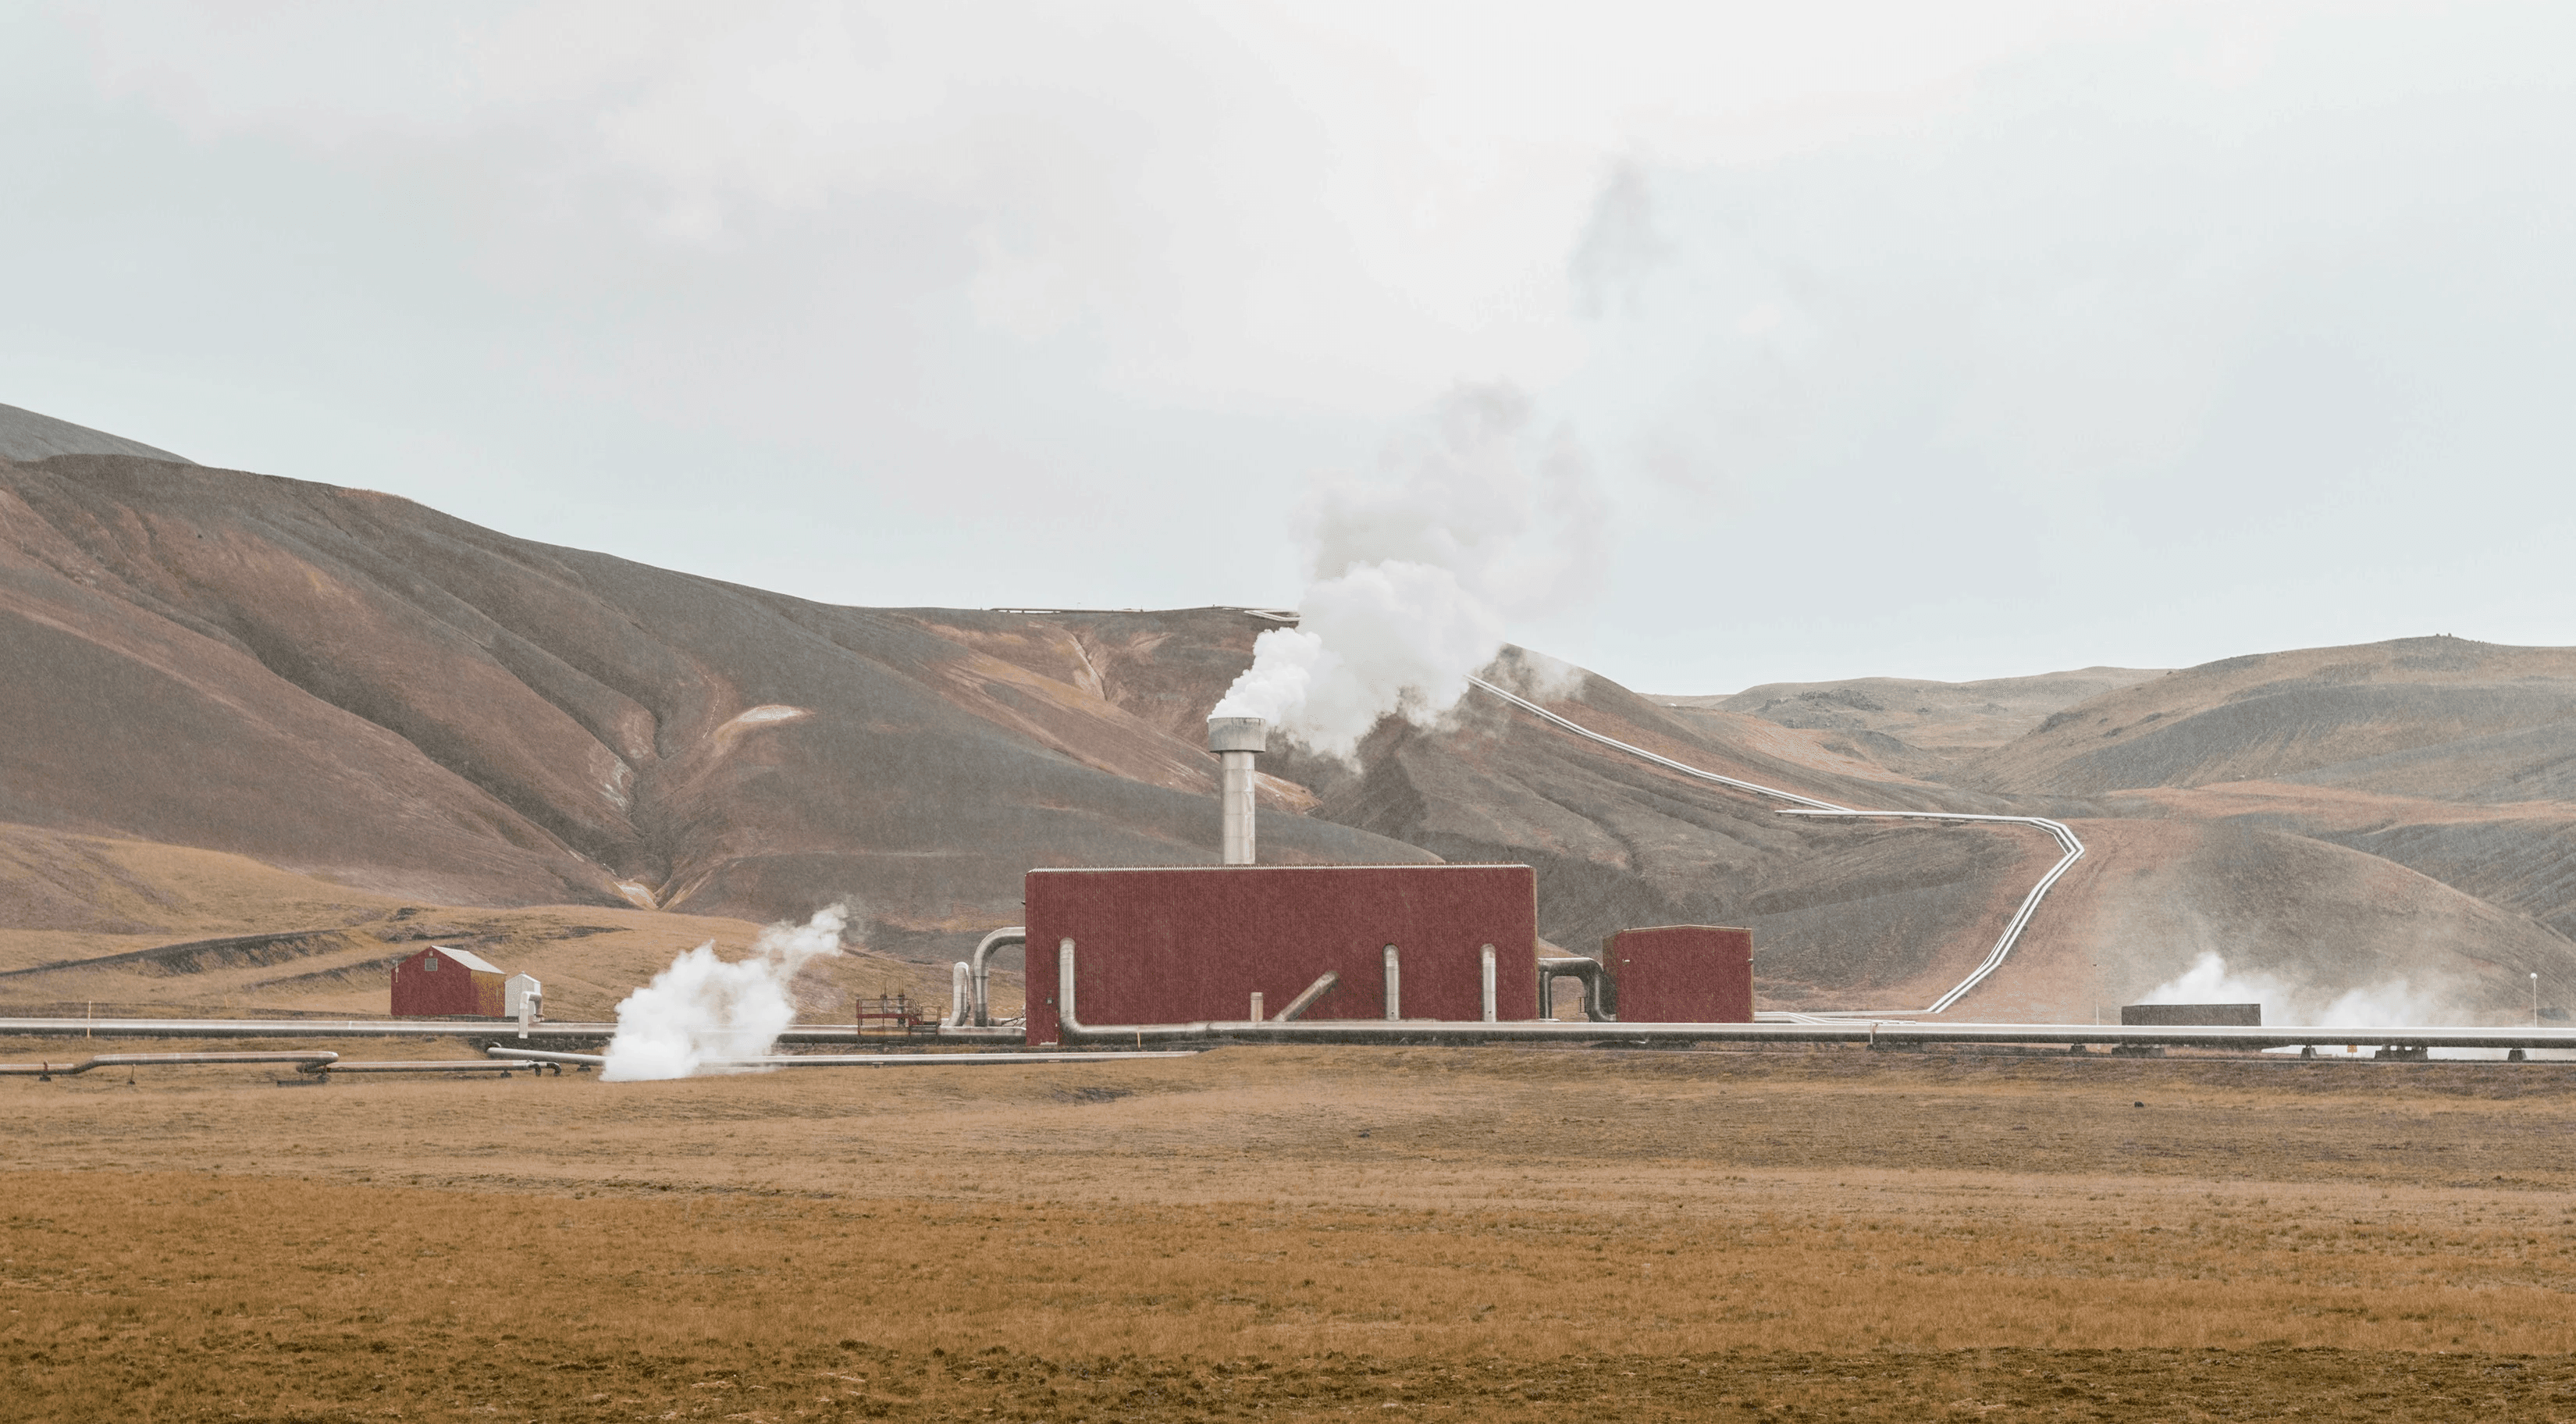
[[[1064,1043],[2130,1043],[2164,1048],[2576,1048],[2576,1027],[2107,1027],[2053,1022],[1146,1022],[1087,1025],[1074,1004],[1074,942],[1056,945],[1056,1020]]]

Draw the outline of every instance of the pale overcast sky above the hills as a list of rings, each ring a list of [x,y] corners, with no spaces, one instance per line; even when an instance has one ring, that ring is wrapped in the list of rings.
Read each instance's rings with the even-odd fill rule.
[[[829,603],[1504,402],[1649,693],[2576,644],[2568,5],[21,0],[0,193],[5,404]]]

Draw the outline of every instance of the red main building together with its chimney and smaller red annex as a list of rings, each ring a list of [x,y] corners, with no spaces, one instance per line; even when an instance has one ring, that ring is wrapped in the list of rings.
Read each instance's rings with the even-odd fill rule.
[[[1754,1022],[1747,930],[1641,927],[1602,958],[1543,955],[1528,865],[1260,865],[1265,749],[1260,718],[1208,718],[1224,865],[1030,870],[1028,924],[987,935],[958,966],[958,1027],[992,1027],[989,955],[1015,942],[1030,948],[1028,1048],[1363,1027],[1497,1035],[1553,1020],[1558,976],[1584,984],[1587,1022],[1613,1022],[1620,994],[1631,1022]]]

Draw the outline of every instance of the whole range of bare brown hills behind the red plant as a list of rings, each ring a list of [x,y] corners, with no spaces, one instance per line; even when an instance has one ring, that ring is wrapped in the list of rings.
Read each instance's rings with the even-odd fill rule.
[[[402,909],[608,999],[685,917],[837,899],[873,950],[935,966],[1020,919],[1033,865],[1216,857],[1203,718],[1270,626],[835,608],[330,484],[0,461],[0,968],[57,966],[0,1002],[229,963],[242,994],[345,1012]],[[1844,806],[2071,821],[2092,852],[1955,1017],[2084,1017],[2202,953],[2318,1002],[2406,984],[2509,1017],[2535,971],[2576,1002],[2568,659],[2439,639],[1728,698],[1584,677],[1551,706]],[[1749,924],[1767,1007],[1932,1002],[2056,857],[2030,827],[1780,816],[1481,693],[1358,765],[1265,773],[1265,860],[1528,863],[1540,932],[1577,950]],[[222,914],[149,912],[206,876]],[[598,948],[631,953],[549,940],[611,922]],[[325,958],[294,973],[283,948],[188,948],[307,930],[330,935],[296,955]]]

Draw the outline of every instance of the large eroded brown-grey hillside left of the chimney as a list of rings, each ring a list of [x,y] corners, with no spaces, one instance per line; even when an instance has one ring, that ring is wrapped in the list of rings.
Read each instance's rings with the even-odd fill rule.
[[[1167,613],[1198,659],[1257,621]],[[956,633],[956,636],[951,636]],[[1110,628],[1110,633],[1118,633]],[[1015,919],[1030,865],[1213,850],[1157,644],[827,608],[420,505],[121,456],[0,466],[0,819],[443,904],[654,904],[881,932]],[[994,649],[994,651],[987,651]],[[1002,657],[1010,654],[1010,657]],[[1283,860],[1419,860],[1280,816]]]

